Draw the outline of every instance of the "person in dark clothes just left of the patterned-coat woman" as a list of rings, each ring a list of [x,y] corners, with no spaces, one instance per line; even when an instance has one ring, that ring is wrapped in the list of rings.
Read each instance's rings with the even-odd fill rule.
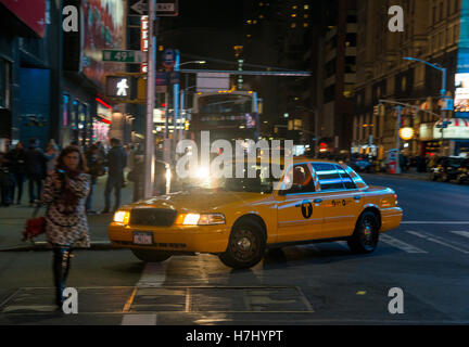
[[[46,178],[47,157],[38,145],[38,140],[30,139],[29,147],[25,151],[26,176],[29,183],[29,206],[33,206],[37,198],[40,197],[42,180]],[[35,194],[35,188],[37,194]]]

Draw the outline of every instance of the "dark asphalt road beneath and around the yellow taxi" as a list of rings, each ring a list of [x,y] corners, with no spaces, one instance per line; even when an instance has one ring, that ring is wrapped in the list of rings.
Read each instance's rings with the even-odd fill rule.
[[[78,314],[53,311],[51,254],[0,253],[0,324],[467,324],[469,185],[365,175],[392,187],[403,224],[372,255],[345,243],[286,247],[251,270],[217,257],[143,265],[129,250],[80,250],[68,286]],[[392,314],[391,288],[403,293]]]

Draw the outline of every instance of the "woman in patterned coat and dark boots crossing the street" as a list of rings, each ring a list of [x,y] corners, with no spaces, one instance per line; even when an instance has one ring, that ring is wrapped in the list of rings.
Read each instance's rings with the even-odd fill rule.
[[[55,170],[46,179],[41,203],[47,205],[46,235],[53,249],[55,304],[62,308],[63,291],[69,272],[73,247],[89,248],[85,200],[89,176],[77,146],[67,146],[58,158]]]

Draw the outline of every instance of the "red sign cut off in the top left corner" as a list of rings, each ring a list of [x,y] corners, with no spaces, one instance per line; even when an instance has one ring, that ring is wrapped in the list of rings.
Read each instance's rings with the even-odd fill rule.
[[[46,0],[0,0],[41,38],[46,35]]]

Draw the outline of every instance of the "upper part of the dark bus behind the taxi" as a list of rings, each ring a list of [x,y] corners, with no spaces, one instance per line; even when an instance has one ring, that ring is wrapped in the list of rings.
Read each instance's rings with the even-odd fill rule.
[[[191,138],[200,144],[201,131],[210,131],[211,142],[225,139],[254,140],[259,137],[257,93],[218,91],[194,94]]]

